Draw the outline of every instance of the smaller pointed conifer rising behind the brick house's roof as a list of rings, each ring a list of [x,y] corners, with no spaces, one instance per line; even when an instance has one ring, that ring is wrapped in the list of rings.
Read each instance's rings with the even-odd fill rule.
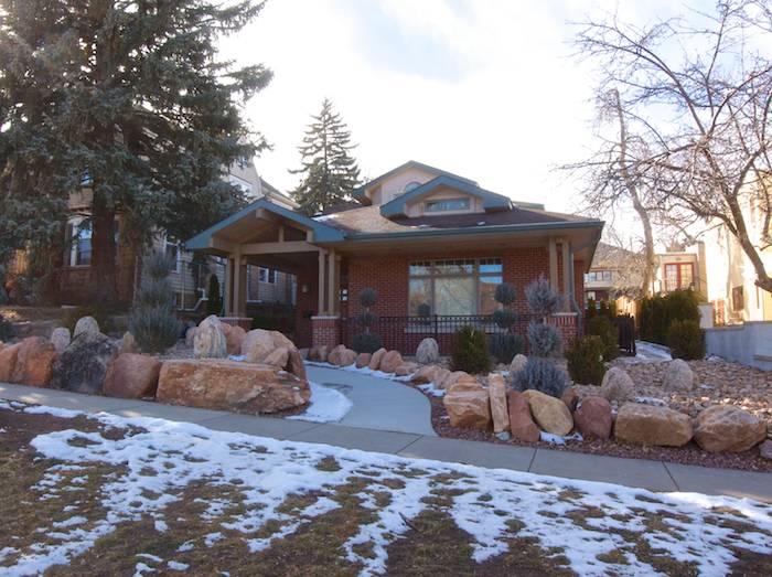
[[[351,156],[356,145],[351,145],[351,132],[329,98],[312,119],[298,147],[302,168],[290,171],[303,175],[292,195],[311,215],[350,200],[360,183],[360,168]]]

